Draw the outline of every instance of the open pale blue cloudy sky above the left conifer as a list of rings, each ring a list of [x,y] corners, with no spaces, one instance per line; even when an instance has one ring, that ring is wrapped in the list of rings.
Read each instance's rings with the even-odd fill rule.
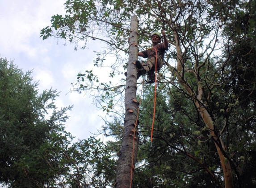
[[[104,44],[94,41],[89,49],[74,50],[75,45],[50,37],[40,38],[40,30],[50,25],[51,16],[65,14],[66,0],[1,0],[0,1],[0,57],[14,61],[23,72],[33,70],[31,76],[39,81],[39,92],[50,88],[60,92],[55,104],[74,105],[67,115],[66,131],[78,139],[87,139],[105,125],[104,112],[92,104],[89,93],[68,92],[76,75],[92,70],[95,50]],[[105,70],[100,70],[104,73]],[[99,73],[100,74],[100,73]],[[104,77],[104,74],[100,74]],[[106,76],[107,77],[107,76]],[[103,78],[104,79],[104,78]],[[102,139],[104,139],[102,137]]]

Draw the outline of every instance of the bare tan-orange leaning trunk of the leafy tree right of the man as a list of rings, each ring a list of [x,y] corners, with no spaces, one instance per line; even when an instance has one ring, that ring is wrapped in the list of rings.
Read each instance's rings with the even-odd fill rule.
[[[200,84],[198,83],[198,95],[196,95],[195,92],[193,92],[189,83],[185,81],[185,78],[183,76],[185,73],[184,72],[185,67],[184,67],[184,60],[183,60],[181,47],[180,47],[180,39],[179,39],[178,34],[175,31],[174,31],[174,38],[175,38],[175,42],[176,42],[176,52],[177,52],[177,74],[176,74],[176,76],[177,76],[180,84],[185,87],[185,89],[188,91],[188,93],[191,96],[195,97],[193,102],[197,106],[197,110],[201,114],[201,117],[202,117],[203,121],[206,123],[206,126],[209,127],[210,134],[216,141],[215,146],[217,148],[218,155],[219,155],[222,169],[223,169],[223,173],[224,173],[225,188],[233,188],[234,185],[233,185],[231,166],[230,166],[230,163],[227,160],[227,158],[223,155],[223,152],[225,151],[225,147],[222,143],[222,139],[220,138],[219,135],[215,134],[214,122],[213,122],[210,114],[208,113],[208,111],[206,110],[206,108],[203,105],[203,102],[201,100],[203,91],[201,89]]]

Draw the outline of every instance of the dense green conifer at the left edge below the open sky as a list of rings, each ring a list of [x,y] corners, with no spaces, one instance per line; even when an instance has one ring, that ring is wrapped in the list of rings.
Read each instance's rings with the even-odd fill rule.
[[[38,83],[32,83],[31,72],[23,74],[3,58],[0,74],[0,181],[12,187],[42,187],[64,171],[58,163],[63,157],[58,147],[65,148],[70,143],[62,123],[71,107],[55,110],[56,91],[38,95]],[[45,119],[49,110],[53,114]],[[54,144],[56,147],[50,147]]]

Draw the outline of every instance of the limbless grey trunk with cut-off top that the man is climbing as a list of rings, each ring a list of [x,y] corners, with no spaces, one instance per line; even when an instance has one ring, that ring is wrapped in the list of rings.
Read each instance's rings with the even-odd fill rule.
[[[124,119],[122,147],[119,151],[115,188],[133,187],[134,165],[138,152],[138,134],[134,129],[139,105],[136,100],[137,68],[134,63],[138,59],[137,43],[138,19],[137,16],[134,15],[131,17],[131,30],[129,39],[129,62],[127,66],[125,91],[126,114]]]

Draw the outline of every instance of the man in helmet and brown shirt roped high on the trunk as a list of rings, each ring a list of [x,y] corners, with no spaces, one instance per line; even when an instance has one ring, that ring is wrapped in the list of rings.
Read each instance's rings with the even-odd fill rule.
[[[151,81],[155,81],[155,63],[156,63],[156,71],[164,65],[164,53],[165,50],[168,50],[168,39],[166,38],[164,30],[162,30],[162,35],[164,38],[164,43],[161,42],[161,35],[159,32],[154,31],[151,33],[151,41],[153,43],[153,47],[147,49],[145,51],[139,52],[138,56],[147,58],[146,62],[140,63],[136,61],[136,66],[138,69],[137,78],[139,78],[143,74],[147,74],[147,78]]]

